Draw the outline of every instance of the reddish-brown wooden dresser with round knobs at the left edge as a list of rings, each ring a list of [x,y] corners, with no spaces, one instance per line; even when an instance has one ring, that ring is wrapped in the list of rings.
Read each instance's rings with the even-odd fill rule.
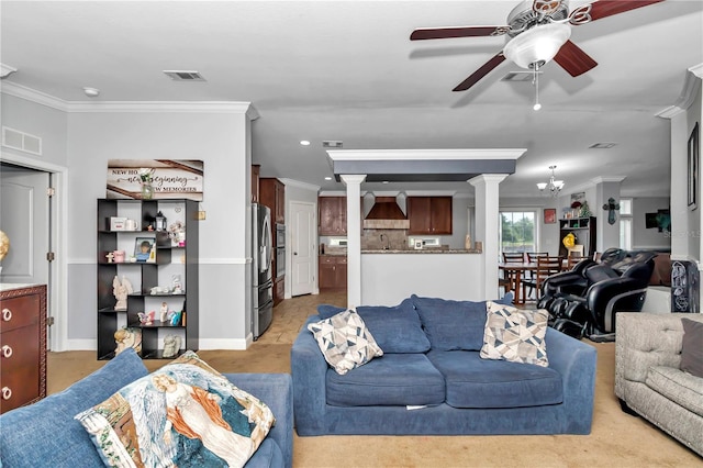
[[[0,285],[0,413],[46,397],[46,286]]]

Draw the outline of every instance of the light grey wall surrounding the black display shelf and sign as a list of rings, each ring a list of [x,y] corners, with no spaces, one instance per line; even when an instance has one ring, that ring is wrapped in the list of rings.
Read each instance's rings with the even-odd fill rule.
[[[96,336],[96,199],[109,159],[204,161],[200,224],[200,346],[244,348],[250,339],[248,104],[197,110],[141,105],[69,112],[69,338]]]

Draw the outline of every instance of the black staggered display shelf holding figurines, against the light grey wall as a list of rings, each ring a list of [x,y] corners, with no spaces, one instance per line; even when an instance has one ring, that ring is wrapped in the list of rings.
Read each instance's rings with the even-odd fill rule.
[[[166,218],[166,231],[154,231],[157,213]],[[136,230],[116,230],[111,218],[136,221]],[[169,235],[170,226],[180,222],[181,235]],[[164,339],[179,337],[180,350],[197,350],[198,338],[198,202],[186,199],[98,200],[98,359],[115,354],[114,333],[129,327],[142,334],[141,356],[164,357]],[[153,244],[154,256],[138,261],[137,238]],[[124,253],[115,261],[112,253]],[[132,292],[126,308],[116,309],[113,281],[130,282]],[[180,312],[179,320],[160,321],[160,309]],[[150,324],[140,314],[155,312]],[[172,358],[166,357],[166,358]]]

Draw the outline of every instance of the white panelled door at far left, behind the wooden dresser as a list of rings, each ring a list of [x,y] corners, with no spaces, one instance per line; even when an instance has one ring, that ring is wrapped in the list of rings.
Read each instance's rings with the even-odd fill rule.
[[[3,165],[0,170],[0,230],[10,237],[2,282],[49,282],[49,174]]]

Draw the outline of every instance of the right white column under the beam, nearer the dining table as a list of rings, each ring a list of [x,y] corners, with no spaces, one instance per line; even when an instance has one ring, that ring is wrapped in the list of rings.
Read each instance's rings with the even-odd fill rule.
[[[476,241],[483,243],[482,270],[476,280],[481,281],[484,299],[498,297],[499,245],[499,183],[507,174],[483,174],[469,180],[476,190]]]

